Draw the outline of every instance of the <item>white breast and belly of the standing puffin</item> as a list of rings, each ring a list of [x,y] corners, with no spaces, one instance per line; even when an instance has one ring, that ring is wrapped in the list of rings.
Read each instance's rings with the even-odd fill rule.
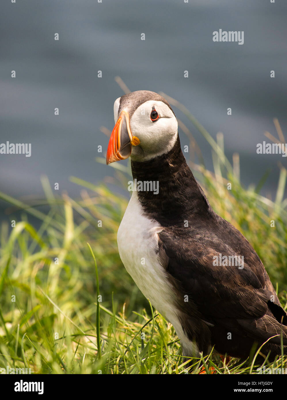
[[[185,355],[197,350],[184,335],[175,308],[175,294],[156,252],[158,233],[163,228],[143,212],[137,192],[132,197],[118,228],[118,251],[122,263],[142,294],[169,322],[181,339]]]

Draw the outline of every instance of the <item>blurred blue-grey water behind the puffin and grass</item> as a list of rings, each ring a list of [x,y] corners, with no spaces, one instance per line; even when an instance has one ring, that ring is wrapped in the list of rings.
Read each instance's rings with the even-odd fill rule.
[[[0,190],[41,197],[46,174],[59,192],[78,196],[81,188],[70,176],[96,183],[113,175],[95,157],[105,157],[108,137],[99,128],[114,126],[113,103],[123,94],[114,77],[120,76],[132,91],[163,91],[179,100],[214,138],[223,132],[229,160],[239,152],[246,186],[271,168],[262,193],[274,198],[278,162],[286,167],[287,160],[258,155],[256,145],[269,142],[265,131],[277,137],[274,117],[286,132],[286,16],[285,0],[2,2],[0,143],[31,143],[32,156],[0,155]],[[244,44],[213,42],[219,29],[244,31]],[[210,146],[175,114],[212,169]],[[180,136],[182,146],[188,144]]]

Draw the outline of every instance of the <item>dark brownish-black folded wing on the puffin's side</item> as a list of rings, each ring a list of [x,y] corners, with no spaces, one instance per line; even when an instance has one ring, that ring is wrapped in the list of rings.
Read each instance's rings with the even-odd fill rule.
[[[243,268],[217,266],[214,257],[220,254],[240,256]],[[229,222],[214,213],[189,221],[188,228],[164,228],[159,233],[159,255],[185,315],[259,341],[280,335],[283,318],[287,344],[287,315],[269,276],[255,250]],[[188,302],[183,300],[186,295]],[[270,343],[280,344],[280,336]]]

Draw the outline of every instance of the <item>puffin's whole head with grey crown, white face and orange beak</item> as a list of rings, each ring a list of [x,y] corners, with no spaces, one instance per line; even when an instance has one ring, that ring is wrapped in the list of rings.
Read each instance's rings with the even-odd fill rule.
[[[106,163],[147,161],[169,152],[177,140],[177,119],[159,94],[138,90],[114,102],[115,126],[108,143]]]

